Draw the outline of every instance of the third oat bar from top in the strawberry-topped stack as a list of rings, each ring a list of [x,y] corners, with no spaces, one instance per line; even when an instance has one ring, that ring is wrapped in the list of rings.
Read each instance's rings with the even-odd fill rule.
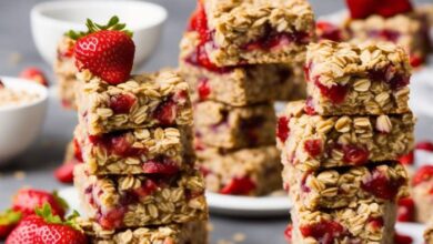
[[[77,165],[74,185],[88,216],[105,230],[208,217],[204,182],[197,171],[172,176],[97,176],[89,175],[83,165]]]

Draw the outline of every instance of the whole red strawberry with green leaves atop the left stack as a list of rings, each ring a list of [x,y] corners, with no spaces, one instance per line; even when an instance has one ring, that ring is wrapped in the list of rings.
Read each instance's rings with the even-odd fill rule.
[[[125,24],[113,17],[107,26],[88,19],[85,33],[70,31],[68,35],[77,40],[74,47],[75,65],[81,71],[90,70],[110,84],[119,84],[130,78],[135,45],[132,33],[123,30]]]

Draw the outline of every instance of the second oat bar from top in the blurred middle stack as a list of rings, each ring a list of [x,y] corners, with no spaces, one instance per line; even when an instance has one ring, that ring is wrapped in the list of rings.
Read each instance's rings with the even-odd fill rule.
[[[180,70],[190,84],[193,101],[213,100],[244,106],[274,100],[291,100],[303,73],[284,64],[244,65],[209,70],[189,62],[199,42],[197,32],[184,34],[181,43]]]

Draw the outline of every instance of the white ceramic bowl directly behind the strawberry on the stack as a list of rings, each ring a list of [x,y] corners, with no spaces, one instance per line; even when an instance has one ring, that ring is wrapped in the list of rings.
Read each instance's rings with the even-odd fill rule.
[[[87,30],[89,18],[97,23],[118,16],[120,22],[134,32],[135,64],[145,61],[161,38],[167,10],[143,1],[51,1],[31,10],[31,30],[39,53],[50,64],[56,60],[56,48],[64,32]]]

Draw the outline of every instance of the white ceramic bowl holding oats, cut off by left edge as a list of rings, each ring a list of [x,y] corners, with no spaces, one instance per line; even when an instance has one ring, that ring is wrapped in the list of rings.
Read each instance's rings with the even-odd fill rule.
[[[8,89],[31,91],[39,99],[30,103],[0,106],[0,165],[22,153],[34,142],[44,122],[48,89],[24,79],[1,77]]]

